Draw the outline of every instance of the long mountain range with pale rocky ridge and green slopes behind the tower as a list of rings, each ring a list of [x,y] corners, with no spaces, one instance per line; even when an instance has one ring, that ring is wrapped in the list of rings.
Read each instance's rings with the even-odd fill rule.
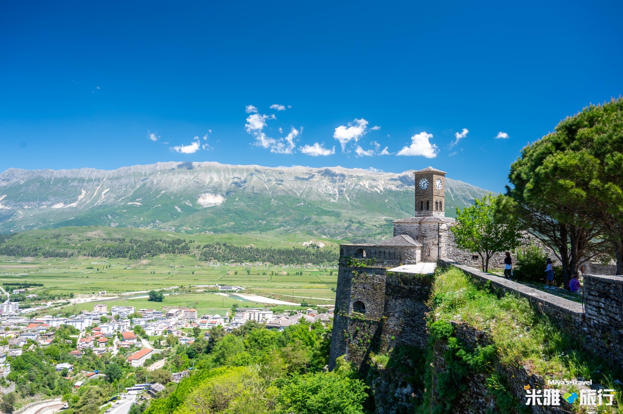
[[[446,214],[488,191],[446,179]],[[158,162],[0,174],[0,233],[102,225],[374,240],[414,210],[412,171]]]

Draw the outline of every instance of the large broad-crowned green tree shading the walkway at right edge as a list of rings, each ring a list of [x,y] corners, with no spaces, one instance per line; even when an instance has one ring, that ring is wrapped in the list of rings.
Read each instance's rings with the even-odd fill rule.
[[[617,273],[623,270],[622,109],[621,99],[585,108],[511,166],[507,195],[528,231],[563,263],[565,286],[584,260],[607,255],[604,236]]]

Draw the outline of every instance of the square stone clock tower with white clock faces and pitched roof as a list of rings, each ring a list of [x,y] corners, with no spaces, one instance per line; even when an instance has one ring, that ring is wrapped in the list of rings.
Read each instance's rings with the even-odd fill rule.
[[[413,174],[416,179],[416,217],[445,217],[447,173],[427,167]]]

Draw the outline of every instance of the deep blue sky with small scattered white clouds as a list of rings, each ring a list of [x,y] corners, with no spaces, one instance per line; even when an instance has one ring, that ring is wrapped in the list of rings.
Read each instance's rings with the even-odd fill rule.
[[[623,93],[621,2],[91,3],[0,5],[0,171],[432,165],[502,191]]]

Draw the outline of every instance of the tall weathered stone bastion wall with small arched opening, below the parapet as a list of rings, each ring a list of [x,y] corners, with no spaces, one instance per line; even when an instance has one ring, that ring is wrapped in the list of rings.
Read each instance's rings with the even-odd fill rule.
[[[429,309],[425,302],[431,286],[431,276],[348,267],[341,258],[329,369],[335,368],[338,357],[346,355],[346,360],[366,374],[371,352],[388,352],[402,344],[426,348],[424,318]],[[355,311],[357,301],[365,305],[365,313]]]

